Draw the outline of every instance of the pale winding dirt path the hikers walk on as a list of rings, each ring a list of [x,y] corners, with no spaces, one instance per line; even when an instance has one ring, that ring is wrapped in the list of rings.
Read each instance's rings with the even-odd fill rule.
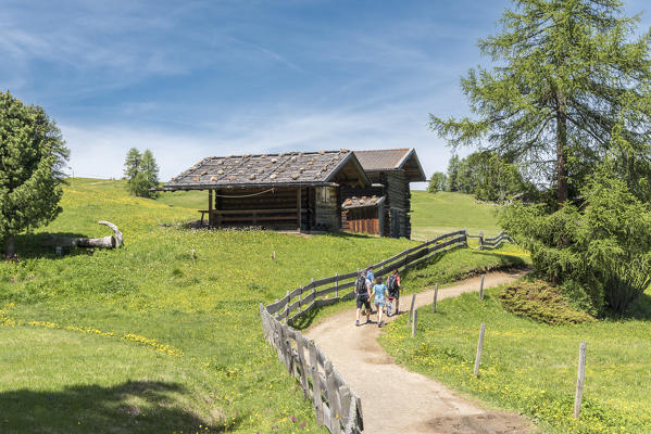
[[[513,281],[519,272],[486,275],[485,288]],[[438,299],[478,291],[479,278],[440,289]],[[416,306],[430,304],[434,290],[416,295]],[[411,294],[401,299],[409,309]],[[395,363],[377,343],[375,322],[354,324],[354,309],[334,315],[306,335],[325,350],[351,388],[362,398],[364,432],[372,434],[529,433],[533,425],[518,414],[488,410],[454,395],[442,384]],[[372,316],[374,319],[375,316]],[[393,318],[388,318],[391,321]],[[381,394],[380,394],[381,391]]]

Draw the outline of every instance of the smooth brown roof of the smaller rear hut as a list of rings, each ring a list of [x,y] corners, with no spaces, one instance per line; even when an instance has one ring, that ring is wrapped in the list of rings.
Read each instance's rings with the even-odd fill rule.
[[[427,179],[413,148],[354,151],[354,153],[365,171],[404,170],[411,182]]]

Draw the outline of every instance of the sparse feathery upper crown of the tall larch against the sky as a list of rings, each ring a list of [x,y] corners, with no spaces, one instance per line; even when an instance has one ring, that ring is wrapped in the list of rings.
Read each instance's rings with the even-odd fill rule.
[[[476,118],[430,114],[430,129],[522,163],[559,204],[609,153],[635,190],[651,180],[651,34],[636,38],[638,22],[618,0],[514,0],[479,41],[493,66],[461,79]]]

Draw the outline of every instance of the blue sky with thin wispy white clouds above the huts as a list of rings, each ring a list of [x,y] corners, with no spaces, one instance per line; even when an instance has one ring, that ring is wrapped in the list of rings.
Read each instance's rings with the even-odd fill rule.
[[[339,148],[415,148],[429,176],[450,149],[427,114],[467,114],[459,78],[509,4],[0,0],[0,89],[59,123],[75,176],[121,177],[132,146],[162,180],[210,155]]]

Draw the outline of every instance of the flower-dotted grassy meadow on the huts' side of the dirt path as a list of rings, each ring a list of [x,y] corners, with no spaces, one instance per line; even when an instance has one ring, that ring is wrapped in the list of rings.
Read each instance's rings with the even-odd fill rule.
[[[58,219],[18,237],[20,261],[0,263],[0,432],[326,432],[268,350],[259,304],[416,242],[175,225],[206,200],[74,179]],[[100,219],[120,227],[123,248],[60,257],[40,246],[48,233],[107,235]],[[456,251],[406,282],[521,256]]]

